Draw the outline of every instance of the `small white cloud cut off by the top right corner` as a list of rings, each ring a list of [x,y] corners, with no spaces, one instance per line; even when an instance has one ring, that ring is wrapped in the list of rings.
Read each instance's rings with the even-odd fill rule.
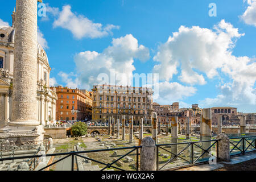
[[[256,1],[255,0],[248,0],[248,7],[243,13],[240,18],[245,22],[246,24],[250,24],[256,27]]]

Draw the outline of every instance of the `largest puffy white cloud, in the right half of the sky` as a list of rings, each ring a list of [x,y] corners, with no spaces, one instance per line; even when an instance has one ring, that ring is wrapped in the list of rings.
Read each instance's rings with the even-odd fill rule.
[[[178,67],[181,69],[179,80],[186,84],[206,84],[203,73],[208,78],[218,75],[217,69],[229,61],[230,49],[236,42],[234,38],[243,34],[225,20],[214,26],[214,30],[181,26],[179,32],[174,32],[166,43],[159,46],[154,57],[159,61],[154,72],[160,74],[160,80],[171,80],[179,73]]]

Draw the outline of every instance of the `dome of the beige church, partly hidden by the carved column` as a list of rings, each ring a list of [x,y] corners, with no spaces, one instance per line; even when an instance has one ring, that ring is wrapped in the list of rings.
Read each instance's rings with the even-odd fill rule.
[[[0,28],[0,45],[14,48],[14,37],[15,37],[15,28],[14,27],[2,27]],[[46,64],[49,64],[46,51],[38,43],[37,44],[38,58],[44,61]]]

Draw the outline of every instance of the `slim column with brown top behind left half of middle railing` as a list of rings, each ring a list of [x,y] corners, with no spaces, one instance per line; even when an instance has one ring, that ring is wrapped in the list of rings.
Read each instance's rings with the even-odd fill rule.
[[[178,118],[177,117],[172,117],[171,118],[171,143],[177,143],[177,121]],[[174,154],[177,155],[177,144],[174,144],[171,146],[171,152],[172,152],[172,158],[174,158]],[[174,159],[174,161],[177,160],[177,158]]]

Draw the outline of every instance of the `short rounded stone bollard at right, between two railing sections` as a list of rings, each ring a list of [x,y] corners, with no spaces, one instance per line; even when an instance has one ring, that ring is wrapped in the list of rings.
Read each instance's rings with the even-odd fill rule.
[[[216,139],[218,140],[218,158],[220,160],[230,161],[229,137],[226,134],[221,133]]]

